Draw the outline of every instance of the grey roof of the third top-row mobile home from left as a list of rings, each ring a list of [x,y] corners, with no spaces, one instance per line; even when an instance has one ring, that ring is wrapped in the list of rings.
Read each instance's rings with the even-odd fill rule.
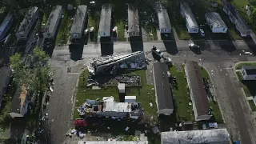
[[[54,27],[58,25],[58,18],[60,15],[62,15],[62,6],[55,6],[54,10],[50,12],[50,16],[44,29],[45,32],[52,33],[54,31]]]

